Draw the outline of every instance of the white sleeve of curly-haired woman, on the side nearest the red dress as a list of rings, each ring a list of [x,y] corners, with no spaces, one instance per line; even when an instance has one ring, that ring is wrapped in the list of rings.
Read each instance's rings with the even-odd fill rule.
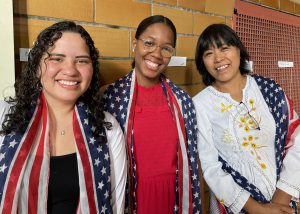
[[[108,122],[112,123],[112,129],[107,130],[111,161],[112,209],[113,213],[124,213],[127,180],[125,140],[117,120],[108,112],[105,112],[105,117]]]

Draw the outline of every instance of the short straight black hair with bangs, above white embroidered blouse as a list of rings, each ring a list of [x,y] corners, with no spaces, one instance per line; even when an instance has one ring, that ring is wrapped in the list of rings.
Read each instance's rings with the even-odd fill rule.
[[[248,68],[249,54],[235,31],[225,24],[212,24],[199,36],[195,55],[196,66],[205,85],[211,85],[215,78],[207,71],[203,54],[211,46],[220,48],[224,44],[235,46],[240,50],[240,72],[241,74],[250,73]]]

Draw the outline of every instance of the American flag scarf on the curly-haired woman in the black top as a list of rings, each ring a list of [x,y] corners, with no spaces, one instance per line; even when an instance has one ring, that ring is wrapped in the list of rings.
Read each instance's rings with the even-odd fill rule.
[[[75,106],[77,213],[112,213],[109,149],[93,135],[89,114],[84,103]],[[47,213],[49,163],[49,115],[41,93],[25,133],[11,133],[0,142],[0,213]]]

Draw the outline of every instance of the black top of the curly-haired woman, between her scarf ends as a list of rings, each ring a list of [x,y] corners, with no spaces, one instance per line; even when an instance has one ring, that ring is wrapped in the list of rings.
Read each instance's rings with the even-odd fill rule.
[[[50,158],[48,213],[76,213],[79,179],[76,153]]]

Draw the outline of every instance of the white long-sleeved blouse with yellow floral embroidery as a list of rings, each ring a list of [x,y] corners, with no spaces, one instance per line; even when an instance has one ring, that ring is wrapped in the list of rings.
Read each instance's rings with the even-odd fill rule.
[[[293,139],[296,143],[287,153],[281,179],[276,182],[275,121],[253,77],[247,76],[242,102],[212,86],[197,94],[193,101],[203,175],[225,206],[234,213],[240,212],[250,193],[221,169],[219,155],[254,184],[267,200],[272,199],[276,187],[299,198],[300,130],[296,130],[296,139]]]

